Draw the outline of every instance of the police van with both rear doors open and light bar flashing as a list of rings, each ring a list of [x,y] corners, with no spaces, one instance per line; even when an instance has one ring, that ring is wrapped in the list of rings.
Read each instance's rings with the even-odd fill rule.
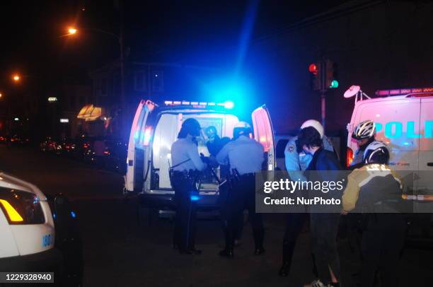
[[[168,100],[157,105],[151,100],[139,102],[132,122],[127,151],[127,174],[124,192],[137,192],[139,206],[145,209],[169,210],[175,206],[169,172],[171,145],[177,139],[180,127],[190,117],[197,119],[202,131],[215,127],[219,137],[233,137],[233,127],[239,122],[233,114],[233,102],[190,102]],[[265,106],[251,114],[254,138],[265,150],[264,169],[275,169],[275,145],[270,115]],[[198,151],[209,156],[206,136],[197,138]],[[217,207],[219,183],[211,172],[204,172],[197,206]],[[219,177],[219,168],[214,170]]]

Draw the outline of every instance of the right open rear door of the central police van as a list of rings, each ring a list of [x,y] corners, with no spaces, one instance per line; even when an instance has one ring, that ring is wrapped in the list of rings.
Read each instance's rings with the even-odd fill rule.
[[[262,105],[253,111],[251,115],[253,119],[254,139],[262,144],[266,155],[266,169],[275,169],[275,141],[274,129],[270,119],[269,111]]]

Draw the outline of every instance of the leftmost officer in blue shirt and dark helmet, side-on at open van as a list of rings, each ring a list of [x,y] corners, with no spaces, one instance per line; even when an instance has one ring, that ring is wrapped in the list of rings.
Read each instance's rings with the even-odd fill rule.
[[[176,216],[173,245],[181,254],[201,254],[195,249],[195,214],[198,171],[207,168],[198,153],[195,137],[200,136],[197,119],[186,119],[171,146],[171,184],[175,190]]]

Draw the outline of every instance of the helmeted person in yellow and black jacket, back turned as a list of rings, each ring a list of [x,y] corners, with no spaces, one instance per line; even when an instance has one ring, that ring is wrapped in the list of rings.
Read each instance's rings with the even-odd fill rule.
[[[384,144],[369,144],[364,151],[364,166],[350,173],[342,196],[343,214],[360,212],[363,217],[361,286],[373,286],[378,270],[381,286],[398,286],[398,259],[407,223],[401,212],[400,179],[388,161]]]

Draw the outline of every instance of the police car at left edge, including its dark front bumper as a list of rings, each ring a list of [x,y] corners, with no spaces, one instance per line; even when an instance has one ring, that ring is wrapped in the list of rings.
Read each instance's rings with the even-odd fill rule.
[[[82,268],[76,213],[67,198],[47,198],[0,172],[0,272],[54,272],[54,282],[81,286]]]

